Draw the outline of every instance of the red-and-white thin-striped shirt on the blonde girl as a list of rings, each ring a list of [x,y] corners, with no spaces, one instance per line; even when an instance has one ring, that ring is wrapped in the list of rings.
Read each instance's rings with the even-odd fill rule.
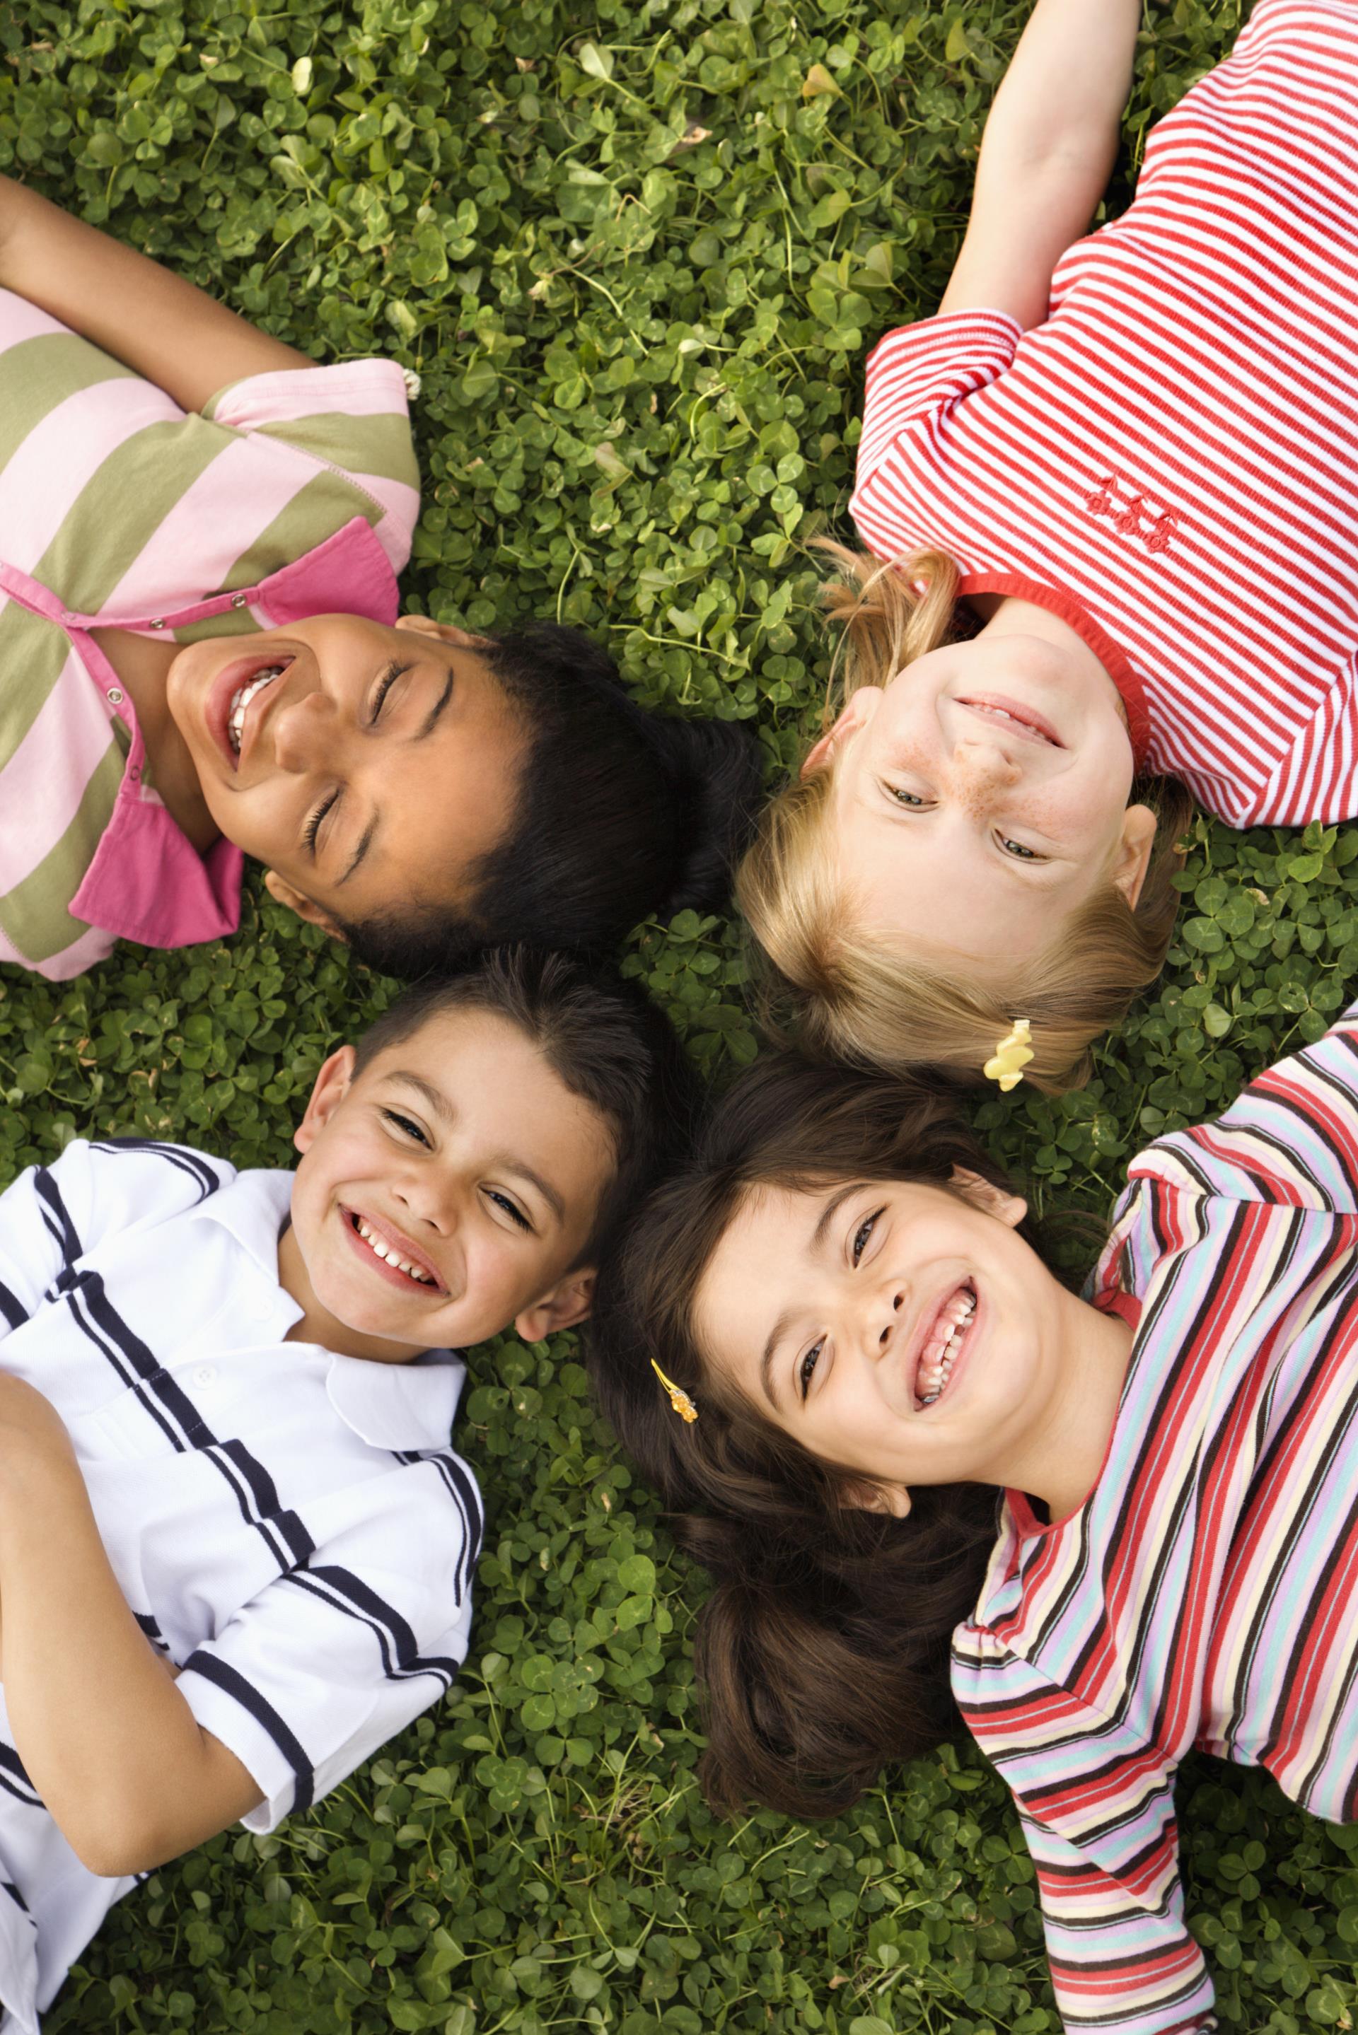
[[[1220,818],[1352,818],[1356,309],[1358,4],[1258,0],[1042,326],[955,311],[875,348],[859,533],[1063,615],[1140,763]]]

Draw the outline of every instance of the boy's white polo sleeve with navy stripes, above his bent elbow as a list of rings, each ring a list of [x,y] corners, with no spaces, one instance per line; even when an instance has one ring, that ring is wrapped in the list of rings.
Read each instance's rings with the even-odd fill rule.
[[[428,1532],[428,1520],[411,1526],[411,1569]],[[248,1829],[309,1809],[452,1687],[470,1624],[470,1597],[452,1587],[462,1555],[444,1551],[442,1581],[318,1557],[189,1654],[179,1693],[265,1797]]]

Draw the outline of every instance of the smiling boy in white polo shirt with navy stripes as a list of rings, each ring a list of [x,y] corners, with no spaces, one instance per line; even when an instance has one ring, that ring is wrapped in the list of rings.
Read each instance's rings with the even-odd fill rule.
[[[454,1351],[582,1319],[686,1105],[658,1011],[511,950],[326,1062],[295,1174],[77,1142],[0,1199],[2,2035],[138,1874],[452,1683]]]

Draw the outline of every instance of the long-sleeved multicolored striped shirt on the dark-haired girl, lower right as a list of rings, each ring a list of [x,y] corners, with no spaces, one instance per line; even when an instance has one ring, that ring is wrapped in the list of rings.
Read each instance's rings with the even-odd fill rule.
[[[1142,1152],[1091,1296],[1136,1323],[1093,1492],[1010,1492],[953,1689],[1014,1791],[1065,2025],[1215,2027],[1175,1768],[1358,1819],[1358,1005]]]

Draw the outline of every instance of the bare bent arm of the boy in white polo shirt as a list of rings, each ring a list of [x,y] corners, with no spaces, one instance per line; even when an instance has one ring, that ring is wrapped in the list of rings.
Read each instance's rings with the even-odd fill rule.
[[[0,1429],[4,1695],[20,1760],[94,1870],[173,1858],[259,1791],[193,1718],[108,1563],[79,1465]],[[236,1795],[218,1807],[222,1762]],[[240,1777],[244,1777],[244,1787]],[[230,1789],[228,1789],[230,1795]]]

